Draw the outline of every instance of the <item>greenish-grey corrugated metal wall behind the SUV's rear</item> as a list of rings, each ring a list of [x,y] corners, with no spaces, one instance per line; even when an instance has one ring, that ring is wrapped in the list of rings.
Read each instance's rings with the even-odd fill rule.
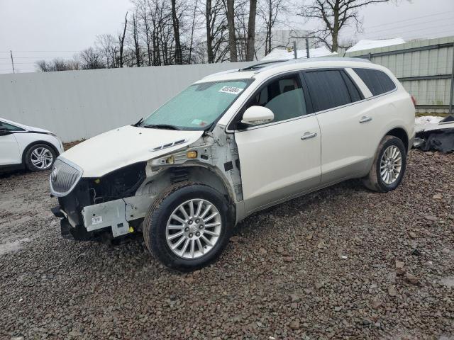
[[[410,94],[419,112],[448,112],[454,37],[345,53],[389,68]]]

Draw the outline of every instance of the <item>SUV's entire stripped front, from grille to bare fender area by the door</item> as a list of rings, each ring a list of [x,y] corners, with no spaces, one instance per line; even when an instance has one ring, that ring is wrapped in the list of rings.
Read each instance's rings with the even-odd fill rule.
[[[148,161],[123,166],[100,177],[84,177],[83,169],[63,157],[54,164],[50,190],[59,205],[62,236],[81,241],[119,241],[140,232],[157,197],[180,181],[206,183],[232,203],[242,200],[236,143],[216,128],[179,149],[150,149]],[[164,148],[167,145],[163,146]]]

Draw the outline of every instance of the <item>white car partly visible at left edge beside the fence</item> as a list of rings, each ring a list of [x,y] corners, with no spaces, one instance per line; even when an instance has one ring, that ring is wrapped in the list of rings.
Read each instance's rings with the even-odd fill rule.
[[[62,152],[62,141],[55,133],[0,118],[0,171],[50,170]]]

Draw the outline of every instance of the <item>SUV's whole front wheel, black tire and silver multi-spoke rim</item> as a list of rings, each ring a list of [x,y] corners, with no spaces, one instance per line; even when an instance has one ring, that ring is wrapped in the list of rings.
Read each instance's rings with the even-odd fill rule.
[[[148,250],[169,268],[194,271],[215,261],[233,229],[228,200],[214,188],[183,182],[151,205],[143,222]]]

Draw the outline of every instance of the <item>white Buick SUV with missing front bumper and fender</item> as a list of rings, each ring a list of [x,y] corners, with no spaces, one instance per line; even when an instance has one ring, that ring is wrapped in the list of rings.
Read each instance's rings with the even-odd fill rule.
[[[414,139],[414,105],[388,69],[294,60],[214,74],[148,118],[58,157],[62,235],[143,232],[165,266],[214,261],[246,216],[346,179],[391,191]]]

